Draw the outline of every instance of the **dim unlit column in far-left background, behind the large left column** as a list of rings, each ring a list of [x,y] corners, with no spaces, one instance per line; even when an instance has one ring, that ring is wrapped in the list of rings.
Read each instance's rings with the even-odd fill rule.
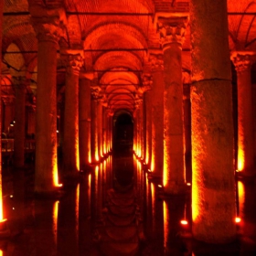
[[[14,164],[23,167],[25,160],[25,101],[26,101],[26,77],[13,77],[16,90],[16,112],[15,112],[15,142],[14,142]]]

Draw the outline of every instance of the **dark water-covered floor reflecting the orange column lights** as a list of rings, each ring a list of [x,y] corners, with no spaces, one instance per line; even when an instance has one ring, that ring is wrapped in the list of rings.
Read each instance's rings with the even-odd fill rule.
[[[33,165],[5,166],[3,180],[0,255],[256,255],[254,181],[238,183],[238,240],[209,245],[191,238],[190,187],[185,196],[162,197],[131,155],[109,156],[79,181],[65,182],[58,199],[35,197]]]

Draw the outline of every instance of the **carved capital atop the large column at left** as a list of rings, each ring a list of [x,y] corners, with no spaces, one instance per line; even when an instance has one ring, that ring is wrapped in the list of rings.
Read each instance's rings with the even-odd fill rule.
[[[59,37],[64,36],[67,17],[63,8],[49,9],[35,5],[30,6],[29,12],[38,41],[59,42]]]

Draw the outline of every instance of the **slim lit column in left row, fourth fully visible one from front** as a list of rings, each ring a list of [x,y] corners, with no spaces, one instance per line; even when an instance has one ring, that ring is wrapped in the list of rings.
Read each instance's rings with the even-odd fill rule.
[[[91,86],[91,163],[99,161],[97,107],[100,88]]]

